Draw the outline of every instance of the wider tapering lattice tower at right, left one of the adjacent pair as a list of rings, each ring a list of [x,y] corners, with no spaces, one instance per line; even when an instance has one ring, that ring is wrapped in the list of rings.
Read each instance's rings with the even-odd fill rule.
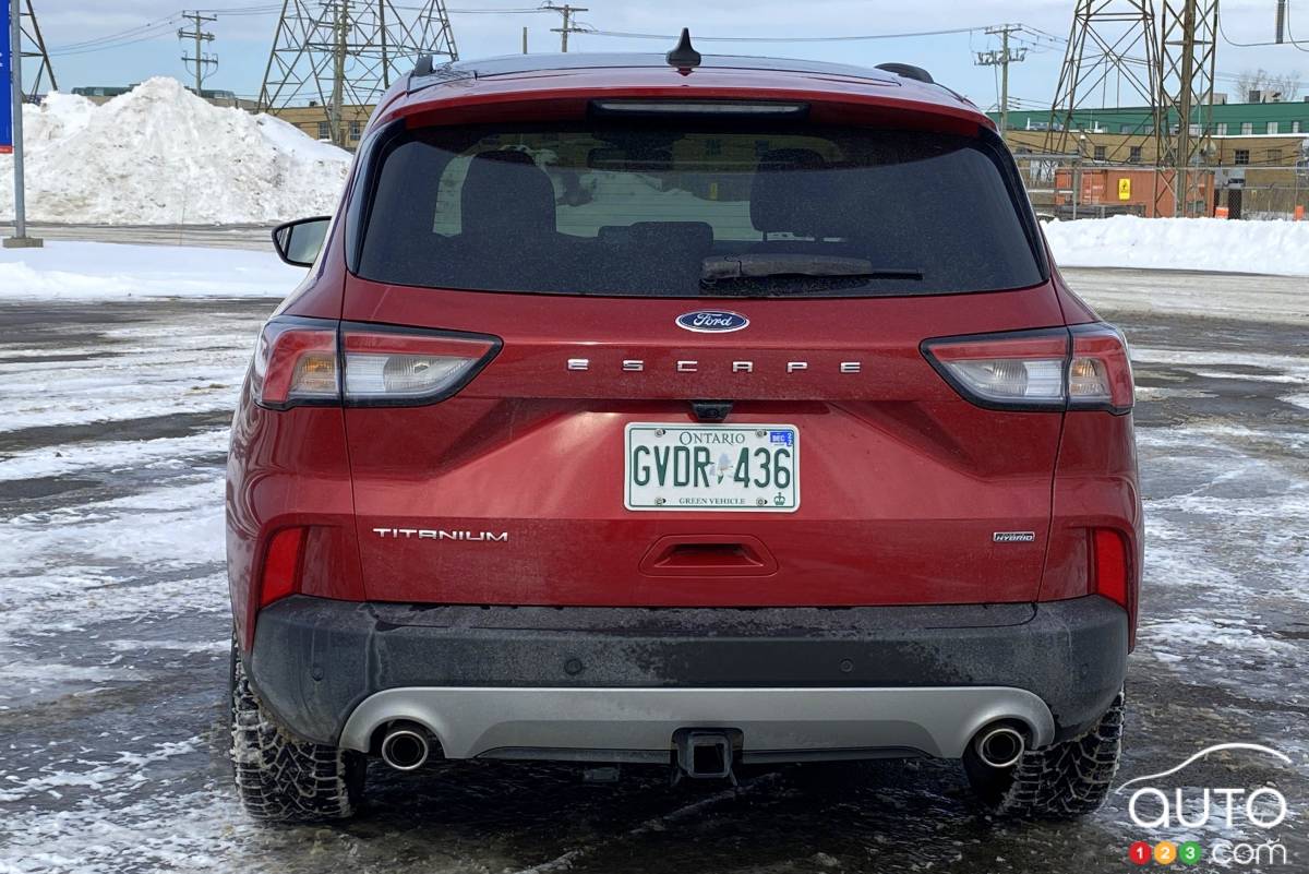
[[[1084,123],[1079,116],[1093,106],[1097,96],[1101,106],[1130,105],[1123,102],[1126,86],[1128,99],[1135,98],[1151,107],[1149,120],[1126,131],[1130,136],[1111,154],[1106,150],[1105,158],[1131,161],[1141,154],[1132,149],[1149,144],[1157,160],[1162,130],[1158,69],[1153,0],[1077,0],[1068,51],[1050,107],[1046,150],[1068,153],[1077,149],[1080,153],[1081,147],[1075,137]],[[1126,156],[1122,154],[1124,149]]]

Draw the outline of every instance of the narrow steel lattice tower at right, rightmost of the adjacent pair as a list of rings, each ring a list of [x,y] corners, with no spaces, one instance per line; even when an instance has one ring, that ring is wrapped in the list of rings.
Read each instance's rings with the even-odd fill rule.
[[[1173,215],[1203,211],[1196,169],[1210,153],[1219,0],[1164,0],[1160,105],[1177,133],[1165,137],[1160,164],[1173,167]]]

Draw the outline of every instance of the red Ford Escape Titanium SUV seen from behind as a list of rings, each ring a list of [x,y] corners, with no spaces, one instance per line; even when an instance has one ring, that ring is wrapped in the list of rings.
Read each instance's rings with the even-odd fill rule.
[[[1094,810],[1141,510],[1121,334],[907,65],[423,61],[236,413],[236,778],[962,759]]]

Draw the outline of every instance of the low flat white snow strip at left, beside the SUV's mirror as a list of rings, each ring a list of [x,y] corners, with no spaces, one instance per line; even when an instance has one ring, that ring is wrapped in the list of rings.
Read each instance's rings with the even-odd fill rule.
[[[304,268],[262,251],[62,241],[47,241],[43,249],[0,249],[4,300],[280,298],[304,279]]]

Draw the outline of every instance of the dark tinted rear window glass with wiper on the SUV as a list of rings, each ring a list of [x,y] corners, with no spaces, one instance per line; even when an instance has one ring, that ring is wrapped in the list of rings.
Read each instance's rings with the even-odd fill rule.
[[[424,128],[380,156],[357,272],[660,297],[933,294],[1042,281],[1004,158],[861,128]]]

